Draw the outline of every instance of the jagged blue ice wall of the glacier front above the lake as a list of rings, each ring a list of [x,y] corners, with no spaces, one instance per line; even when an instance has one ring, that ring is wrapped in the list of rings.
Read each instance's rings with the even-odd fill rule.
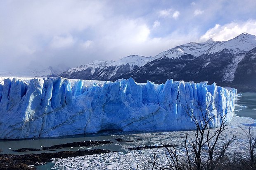
[[[61,77],[31,79],[25,83],[6,79],[0,85],[0,138],[55,137],[101,130],[186,130],[195,126],[185,110],[199,117],[201,110],[230,121],[235,107],[233,88],[215,83],[167,80],[156,85],[132,78],[86,87]],[[206,106],[207,104],[207,106]],[[216,109],[215,109],[216,108]]]

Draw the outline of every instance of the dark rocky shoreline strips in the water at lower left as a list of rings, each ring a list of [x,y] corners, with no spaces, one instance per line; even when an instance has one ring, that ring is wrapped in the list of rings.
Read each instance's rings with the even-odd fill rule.
[[[28,151],[54,151],[54,149],[62,149],[68,147],[89,147],[95,145],[104,145],[113,143],[111,141],[81,141],[72,142],[60,145],[53,145],[51,147],[38,148],[20,148],[14,150],[14,152],[28,152]],[[85,156],[92,154],[102,154],[110,152],[106,149],[92,149],[92,150],[79,150],[79,151],[62,151],[57,153],[42,153],[42,154],[25,154],[25,155],[14,155],[14,154],[1,154],[0,155],[0,170],[31,170],[34,169],[34,165],[43,165],[46,162],[51,161],[53,158],[68,158],[75,156]]]

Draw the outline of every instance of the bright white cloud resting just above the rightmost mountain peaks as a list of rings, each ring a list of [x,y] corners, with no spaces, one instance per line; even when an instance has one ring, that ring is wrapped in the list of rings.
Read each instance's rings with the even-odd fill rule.
[[[200,40],[205,41],[213,38],[215,41],[227,41],[243,32],[256,35],[256,20],[245,22],[232,22],[225,25],[216,24],[214,28],[209,29]]]

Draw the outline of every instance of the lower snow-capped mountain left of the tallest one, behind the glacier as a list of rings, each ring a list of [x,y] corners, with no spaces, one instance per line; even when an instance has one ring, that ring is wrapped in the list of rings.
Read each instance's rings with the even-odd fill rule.
[[[129,55],[116,62],[95,61],[85,66],[69,69],[59,76],[73,79],[115,80],[116,77],[145,65],[150,58],[140,55]]]

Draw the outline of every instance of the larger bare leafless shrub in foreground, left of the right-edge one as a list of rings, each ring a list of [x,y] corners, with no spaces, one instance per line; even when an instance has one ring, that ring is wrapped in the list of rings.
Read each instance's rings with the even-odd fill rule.
[[[230,164],[234,164],[235,160],[230,159],[232,155],[228,154],[227,150],[236,136],[232,136],[229,140],[223,140],[222,133],[227,129],[226,116],[228,113],[212,114],[216,109],[208,103],[195,105],[194,109],[185,107],[185,112],[196,127],[191,139],[189,139],[188,133],[185,134],[183,147],[186,156],[180,156],[180,152],[174,146],[166,147],[167,163],[156,163],[154,161],[152,169],[215,170],[225,169],[230,167]],[[219,127],[218,129],[212,129],[212,122],[216,119],[220,122]]]

